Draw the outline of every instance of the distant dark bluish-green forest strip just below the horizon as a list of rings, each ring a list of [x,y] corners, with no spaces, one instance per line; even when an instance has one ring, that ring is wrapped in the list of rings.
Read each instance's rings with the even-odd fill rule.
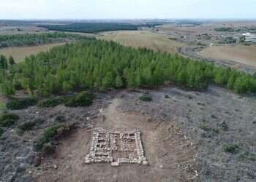
[[[120,30],[138,30],[141,26],[154,26],[159,24],[148,23],[128,24],[128,23],[72,23],[67,25],[40,25],[51,31],[76,31],[85,33],[97,33],[100,31],[120,31]]]

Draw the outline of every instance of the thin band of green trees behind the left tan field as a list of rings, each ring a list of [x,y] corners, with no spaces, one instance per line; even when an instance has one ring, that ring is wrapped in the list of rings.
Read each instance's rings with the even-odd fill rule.
[[[26,33],[15,35],[0,35],[0,48],[14,46],[34,46],[38,44],[70,41],[77,39],[83,39],[83,36],[70,33]]]

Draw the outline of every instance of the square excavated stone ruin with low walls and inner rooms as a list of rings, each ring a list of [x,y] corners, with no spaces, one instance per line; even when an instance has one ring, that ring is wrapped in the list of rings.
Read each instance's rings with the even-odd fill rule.
[[[111,162],[112,166],[121,163],[148,165],[140,138],[140,130],[118,132],[94,129],[91,149],[85,163]]]

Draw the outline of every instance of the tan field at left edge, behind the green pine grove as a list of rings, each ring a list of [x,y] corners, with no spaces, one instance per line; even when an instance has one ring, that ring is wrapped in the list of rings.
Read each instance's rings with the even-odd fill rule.
[[[26,56],[37,54],[39,52],[50,50],[53,47],[60,46],[66,44],[65,42],[61,43],[54,43],[54,44],[44,44],[39,46],[32,46],[32,47],[7,47],[4,49],[0,49],[0,55],[5,55],[12,57],[15,59],[16,63],[22,62]]]

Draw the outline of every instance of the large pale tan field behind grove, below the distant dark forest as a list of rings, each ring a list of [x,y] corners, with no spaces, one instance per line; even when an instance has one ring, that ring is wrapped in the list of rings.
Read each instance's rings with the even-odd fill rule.
[[[112,31],[97,36],[99,39],[117,41],[124,46],[147,47],[148,49],[176,53],[184,44],[168,39],[170,36],[150,31]]]

